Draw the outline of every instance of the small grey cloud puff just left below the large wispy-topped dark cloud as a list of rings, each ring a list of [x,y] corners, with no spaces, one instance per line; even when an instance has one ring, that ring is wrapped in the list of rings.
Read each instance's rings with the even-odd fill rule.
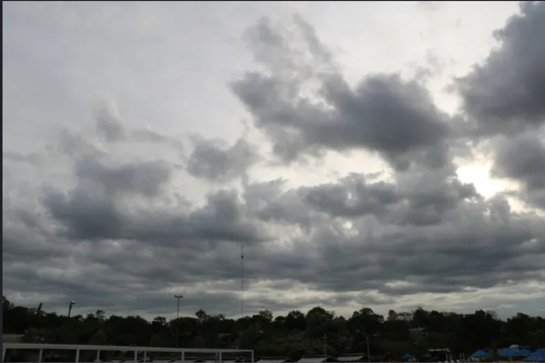
[[[257,152],[246,140],[239,139],[233,146],[222,140],[195,138],[195,149],[189,157],[187,171],[196,177],[216,182],[227,182],[243,176],[246,169],[257,161]]]

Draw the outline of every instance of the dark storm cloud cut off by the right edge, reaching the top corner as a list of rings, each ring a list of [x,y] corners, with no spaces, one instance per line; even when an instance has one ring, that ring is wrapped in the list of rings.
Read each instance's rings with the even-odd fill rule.
[[[520,182],[520,198],[545,207],[545,2],[522,2],[496,30],[500,42],[457,80],[468,131],[491,138],[492,174]]]

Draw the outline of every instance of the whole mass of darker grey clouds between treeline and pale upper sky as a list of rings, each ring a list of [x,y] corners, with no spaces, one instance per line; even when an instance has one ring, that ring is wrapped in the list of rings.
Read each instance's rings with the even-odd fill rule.
[[[143,315],[172,311],[183,293],[186,313],[235,315],[244,247],[247,312],[463,310],[529,293],[540,306],[543,24],[545,3],[523,3],[496,33],[498,47],[453,80],[463,107],[450,115],[401,73],[352,85],[301,17],[261,19],[243,36],[259,70],[226,87],[270,155],[246,135],[187,141],[132,126],[109,99],[89,110],[89,130],[63,129],[39,150],[4,149],[3,293]],[[485,153],[492,176],[516,191],[485,198],[460,180],[455,145]],[[384,172],[297,183],[262,172],[274,169],[270,159],[298,168],[362,151]]]

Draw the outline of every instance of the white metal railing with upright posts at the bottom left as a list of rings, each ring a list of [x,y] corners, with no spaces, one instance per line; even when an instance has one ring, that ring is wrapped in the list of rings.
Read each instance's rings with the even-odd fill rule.
[[[179,353],[180,361],[187,362],[185,360],[185,353],[195,353],[195,354],[211,354],[214,353],[217,355],[217,360],[219,362],[223,361],[222,354],[234,354],[234,353],[250,353],[251,361],[253,363],[253,349],[196,349],[196,348],[163,348],[163,347],[134,347],[134,346],[92,346],[85,344],[34,344],[34,343],[2,343],[2,362],[5,360],[5,355],[8,349],[25,349],[25,350],[38,350],[38,363],[41,363],[43,359],[44,349],[47,350],[75,350],[76,360],[75,363],[79,363],[80,360],[80,351],[81,350],[96,350],[96,361],[100,361],[100,352],[107,351],[123,351],[123,352],[134,352],[134,362],[147,361],[148,352],[158,352],[158,353]],[[138,354],[142,354],[142,358],[138,357]],[[177,359],[178,360],[178,359]],[[129,360],[125,360],[129,362]]]

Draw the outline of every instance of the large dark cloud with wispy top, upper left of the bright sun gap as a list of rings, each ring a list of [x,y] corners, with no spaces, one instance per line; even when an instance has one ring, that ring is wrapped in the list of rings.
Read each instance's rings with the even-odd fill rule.
[[[355,89],[335,69],[313,29],[296,18],[300,53],[289,37],[261,20],[249,30],[250,48],[266,72],[247,73],[232,87],[268,134],[284,161],[326,149],[377,151],[396,169],[418,161],[439,168],[447,163],[449,118],[429,92],[399,75],[370,75]],[[302,59],[301,59],[302,58]],[[308,89],[315,87],[309,97]]]

